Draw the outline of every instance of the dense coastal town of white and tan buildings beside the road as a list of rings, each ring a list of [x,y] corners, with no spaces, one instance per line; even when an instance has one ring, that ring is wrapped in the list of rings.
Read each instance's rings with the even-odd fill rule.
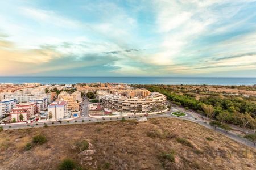
[[[168,109],[163,94],[124,83],[0,85],[2,125],[148,116]]]

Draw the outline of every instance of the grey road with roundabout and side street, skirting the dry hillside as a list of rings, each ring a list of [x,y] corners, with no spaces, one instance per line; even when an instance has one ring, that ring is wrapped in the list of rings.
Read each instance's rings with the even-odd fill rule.
[[[12,125],[1,125],[3,126],[3,128],[5,130],[7,129],[23,129],[23,128],[33,128],[33,127],[43,127],[44,124],[47,124],[48,126],[58,126],[58,125],[68,125],[68,124],[86,124],[86,123],[90,123],[90,122],[105,122],[105,121],[118,121],[121,120],[121,117],[119,118],[91,118],[88,116],[88,104],[89,101],[86,97],[84,97],[84,101],[82,101],[81,103],[81,114],[80,117],[76,118],[75,120],[72,121],[62,121],[60,122],[47,122],[47,123],[31,123],[31,124],[12,124]],[[177,110],[186,113],[187,116],[184,117],[177,117],[172,115],[172,112],[176,112]],[[162,114],[155,114],[155,115],[148,115],[148,116],[142,116],[142,117],[148,117],[148,118],[152,118],[152,117],[168,117],[168,118],[178,118],[178,119],[183,119],[183,120],[188,120],[188,121],[192,121],[192,122],[196,122],[197,124],[200,124],[208,129],[213,129],[212,126],[209,125],[209,122],[205,121],[204,119],[201,118],[200,114],[197,114],[196,112],[193,111],[187,111],[182,107],[178,107],[178,106],[174,106],[170,109],[170,111],[167,111],[165,113]],[[138,116],[127,116],[126,119],[137,119]],[[205,117],[203,117],[205,118]],[[226,137],[229,137],[231,139],[233,139],[234,141],[243,143],[246,146],[250,146],[250,147],[255,147],[253,145],[253,142],[247,140],[246,138],[240,137],[237,134],[229,131],[228,133],[225,133],[225,131],[223,129],[220,128],[216,128],[215,130],[218,133],[221,133],[223,135],[225,135]]]

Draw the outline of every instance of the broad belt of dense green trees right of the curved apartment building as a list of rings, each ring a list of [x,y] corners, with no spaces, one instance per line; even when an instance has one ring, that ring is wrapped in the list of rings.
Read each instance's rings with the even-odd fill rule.
[[[195,95],[177,94],[174,89],[166,85],[134,85],[136,88],[147,88],[151,92],[160,92],[167,96],[167,99],[177,105],[193,109],[208,118],[213,118],[222,123],[230,123],[243,128],[256,129],[256,104],[250,100],[236,96],[221,97],[219,94],[209,95],[196,99]],[[242,87],[241,87],[242,88]],[[180,91],[183,91],[182,89]],[[195,91],[201,94],[200,90]]]

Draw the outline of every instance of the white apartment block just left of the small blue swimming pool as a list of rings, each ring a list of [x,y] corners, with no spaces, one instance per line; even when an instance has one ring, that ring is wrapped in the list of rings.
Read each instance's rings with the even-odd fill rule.
[[[67,101],[56,101],[48,105],[48,117],[52,115],[52,120],[63,119],[68,116]]]

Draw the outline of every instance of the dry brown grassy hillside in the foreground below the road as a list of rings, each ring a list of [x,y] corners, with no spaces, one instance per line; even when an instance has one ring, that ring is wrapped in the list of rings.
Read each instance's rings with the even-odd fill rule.
[[[46,143],[32,142],[42,134]],[[77,143],[89,146],[81,151]],[[31,146],[26,146],[31,143]],[[256,151],[193,122],[152,118],[0,132],[0,169],[253,169]]]

